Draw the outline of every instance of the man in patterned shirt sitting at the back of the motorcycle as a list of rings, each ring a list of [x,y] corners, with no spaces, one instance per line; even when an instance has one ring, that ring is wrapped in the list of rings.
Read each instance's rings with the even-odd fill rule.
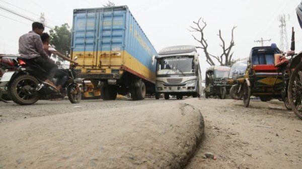
[[[43,44],[40,38],[44,31],[43,24],[34,22],[32,24],[32,31],[24,34],[19,39],[19,54],[20,58],[28,63],[36,63],[46,71],[45,83],[56,86],[51,81],[57,71],[58,67],[49,59],[47,53],[43,50]]]

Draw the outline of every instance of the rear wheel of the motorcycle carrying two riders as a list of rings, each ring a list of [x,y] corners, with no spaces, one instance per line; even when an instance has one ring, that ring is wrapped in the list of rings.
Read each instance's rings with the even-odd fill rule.
[[[37,88],[38,80],[30,75],[20,75],[13,79],[8,92],[10,98],[17,104],[30,105],[39,100],[39,94],[36,92],[28,93],[29,88]]]

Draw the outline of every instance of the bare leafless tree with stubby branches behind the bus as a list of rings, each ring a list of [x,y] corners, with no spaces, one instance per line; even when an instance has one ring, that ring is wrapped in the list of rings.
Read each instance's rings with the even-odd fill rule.
[[[201,21],[202,20],[202,21]],[[202,23],[201,23],[201,22]],[[196,38],[194,35],[193,38],[200,43],[201,46],[198,46],[197,48],[200,48],[203,50],[205,57],[206,57],[206,62],[213,66],[215,65],[215,63],[213,62],[213,58],[215,58],[220,65],[231,65],[232,64],[232,57],[234,52],[231,53],[232,48],[235,46],[234,43],[234,30],[237,28],[236,26],[233,27],[232,29],[232,39],[230,42],[230,45],[226,45],[225,41],[223,40],[222,36],[221,36],[221,30],[219,30],[219,33],[217,34],[217,36],[219,37],[219,39],[221,40],[222,44],[220,44],[220,47],[222,48],[222,54],[221,55],[212,55],[208,52],[208,43],[204,38],[204,29],[207,26],[206,22],[202,19],[199,18],[198,22],[193,22],[194,26],[190,26],[190,28],[192,30],[190,30],[191,32],[199,32],[200,33],[200,38]]]

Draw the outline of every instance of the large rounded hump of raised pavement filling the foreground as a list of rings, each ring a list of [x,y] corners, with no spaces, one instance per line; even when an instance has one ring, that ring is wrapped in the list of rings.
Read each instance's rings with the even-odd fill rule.
[[[4,122],[0,168],[181,168],[203,131],[176,101]]]

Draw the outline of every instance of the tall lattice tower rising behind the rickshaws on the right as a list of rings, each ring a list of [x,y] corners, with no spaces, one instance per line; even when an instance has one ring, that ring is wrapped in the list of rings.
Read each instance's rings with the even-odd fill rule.
[[[288,16],[289,20],[289,16]],[[287,40],[287,31],[286,31],[286,18],[285,15],[279,15],[278,21],[281,23],[279,25],[280,28],[280,48],[281,51],[287,51],[288,50],[288,40]]]

